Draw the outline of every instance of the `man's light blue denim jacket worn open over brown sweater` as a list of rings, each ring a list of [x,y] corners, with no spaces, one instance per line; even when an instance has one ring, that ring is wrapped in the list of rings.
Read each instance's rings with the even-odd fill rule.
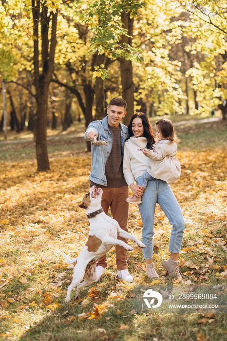
[[[87,133],[90,131],[93,131],[97,134],[97,140],[103,140],[107,142],[107,146],[92,145],[92,170],[89,175],[89,179],[91,181],[95,182],[95,184],[100,184],[103,186],[107,185],[105,167],[106,167],[106,161],[110,155],[110,152],[112,149],[112,143],[113,143],[113,138],[109,130],[107,117],[108,116],[105,116],[100,121],[91,122],[84,135],[85,140],[89,141],[87,139]],[[128,137],[128,128],[124,124],[119,123],[119,125],[121,128],[121,157],[122,157],[122,162],[123,162],[124,142],[125,142],[125,139]]]

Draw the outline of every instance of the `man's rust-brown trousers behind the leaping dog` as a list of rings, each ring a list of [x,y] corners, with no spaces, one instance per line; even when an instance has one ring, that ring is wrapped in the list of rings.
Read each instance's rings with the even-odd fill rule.
[[[129,214],[129,204],[126,199],[129,197],[128,186],[115,187],[115,188],[102,188],[102,201],[101,206],[104,212],[108,214],[109,208],[111,208],[111,213],[113,218],[118,222],[119,226],[128,232],[127,222]],[[117,237],[117,239],[122,240],[127,243],[127,239]],[[117,270],[127,269],[127,250],[122,246],[115,246],[116,250],[116,265]],[[97,265],[103,267],[107,266],[106,255],[100,257],[97,261]]]

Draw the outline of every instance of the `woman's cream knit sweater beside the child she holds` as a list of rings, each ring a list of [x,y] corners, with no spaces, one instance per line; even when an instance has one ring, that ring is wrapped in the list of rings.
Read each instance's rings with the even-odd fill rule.
[[[147,142],[146,137],[131,136],[124,144],[123,172],[128,186],[134,184],[134,180],[147,170],[148,157],[142,151],[137,151],[146,148]]]

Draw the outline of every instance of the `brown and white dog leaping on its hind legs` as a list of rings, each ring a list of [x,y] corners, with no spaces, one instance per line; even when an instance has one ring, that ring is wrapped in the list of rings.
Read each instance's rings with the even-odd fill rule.
[[[79,205],[79,207],[85,208],[90,223],[90,231],[87,243],[76,258],[70,259],[63,253],[64,258],[68,263],[75,263],[73,280],[68,287],[65,302],[70,301],[73,288],[77,286],[76,298],[81,288],[95,282],[97,278],[96,262],[98,258],[106,254],[112,246],[119,245],[123,246],[126,250],[132,251],[132,246],[118,240],[117,236],[132,239],[138,246],[142,248],[146,247],[138,238],[124,231],[116,220],[105,214],[101,207],[101,199],[102,189],[96,189],[95,186],[93,186]],[[84,281],[80,283],[84,277]]]

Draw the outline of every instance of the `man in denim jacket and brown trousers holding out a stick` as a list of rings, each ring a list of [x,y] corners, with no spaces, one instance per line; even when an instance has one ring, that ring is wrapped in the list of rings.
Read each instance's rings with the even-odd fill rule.
[[[124,178],[122,164],[124,141],[128,136],[128,128],[120,121],[126,115],[127,103],[124,99],[114,97],[107,107],[107,116],[100,121],[93,121],[89,124],[85,139],[93,141],[104,140],[105,145],[92,145],[92,170],[89,175],[91,186],[101,187],[102,208],[107,214],[109,207],[113,218],[119,226],[128,231],[128,198],[129,189]],[[127,243],[127,239],[118,238]],[[132,276],[127,269],[127,250],[122,246],[116,248],[117,276],[127,282],[132,282]],[[106,256],[99,258],[97,262],[97,280],[106,273]],[[96,280],[96,281],[97,281]]]

